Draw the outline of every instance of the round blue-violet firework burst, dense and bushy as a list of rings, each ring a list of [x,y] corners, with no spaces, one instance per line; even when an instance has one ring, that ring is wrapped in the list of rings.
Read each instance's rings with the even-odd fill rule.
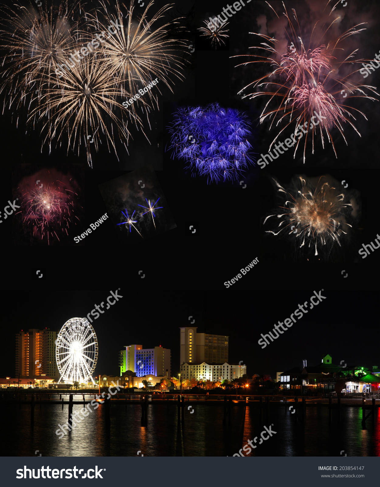
[[[247,140],[250,123],[235,109],[217,103],[181,108],[174,113],[169,133],[173,158],[187,161],[193,173],[208,177],[207,182],[237,179],[253,163]]]

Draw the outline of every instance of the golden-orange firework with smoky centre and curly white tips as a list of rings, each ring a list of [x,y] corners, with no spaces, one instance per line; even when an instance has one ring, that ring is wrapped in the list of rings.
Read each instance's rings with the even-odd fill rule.
[[[273,179],[287,200],[277,213],[265,218],[264,225],[272,217],[279,222],[277,231],[266,230],[266,233],[294,235],[299,240],[299,247],[314,247],[314,255],[318,255],[318,245],[331,248],[336,242],[341,246],[342,234],[347,234],[347,226],[352,228],[345,222],[346,208],[352,208],[352,204],[344,202],[344,192],[338,194],[339,191],[330,186],[325,176],[321,176],[317,184],[303,177],[298,177],[298,180],[301,188],[288,192]]]

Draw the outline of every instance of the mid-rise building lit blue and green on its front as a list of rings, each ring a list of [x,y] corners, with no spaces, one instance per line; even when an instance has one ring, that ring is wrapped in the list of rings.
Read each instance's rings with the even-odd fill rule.
[[[161,345],[144,349],[142,345],[128,345],[126,350],[121,350],[119,357],[120,375],[130,370],[137,377],[149,374],[170,377],[170,350]]]

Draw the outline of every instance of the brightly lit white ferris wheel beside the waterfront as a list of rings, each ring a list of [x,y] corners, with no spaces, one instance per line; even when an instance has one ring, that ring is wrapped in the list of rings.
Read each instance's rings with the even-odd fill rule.
[[[92,373],[98,359],[98,340],[94,329],[85,318],[71,318],[58,333],[55,358],[59,381],[78,381],[95,384]]]

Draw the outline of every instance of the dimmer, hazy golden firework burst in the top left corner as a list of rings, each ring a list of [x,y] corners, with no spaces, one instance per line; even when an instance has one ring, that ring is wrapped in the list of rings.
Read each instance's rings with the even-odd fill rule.
[[[78,1],[67,0],[58,6],[33,1],[25,7],[16,2],[13,7],[1,6],[0,35],[5,56],[0,93],[11,108],[21,104],[29,108],[32,100],[48,96],[50,75],[58,63],[64,62],[73,48],[74,12],[80,10]],[[5,106],[5,103],[4,103]]]

